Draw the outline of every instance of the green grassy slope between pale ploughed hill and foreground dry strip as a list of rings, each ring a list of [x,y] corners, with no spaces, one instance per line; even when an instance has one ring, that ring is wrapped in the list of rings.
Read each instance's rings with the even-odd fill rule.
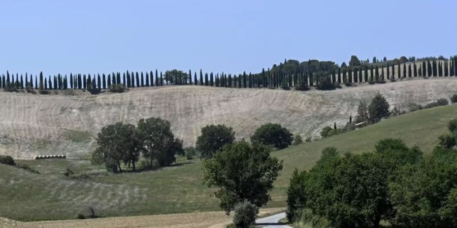
[[[275,151],[284,160],[284,170],[275,183],[269,207],[284,206],[285,189],[293,169],[309,169],[326,146],[340,151],[371,151],[385,137],[417,144],[426,153],[446,132],[447,122],[455,118],[457,105],[417,111],[379,124],[312,143]],[[42,174],[31,174],[0,165],[0,217],[17,220],[69,219],[95,206],[102,216],[163,214],[218,210],[218,200],[201,182],[201,162],[178,165],[157,171],[109,174],[88,161],[20,161]],[[62,175],[71,166],[76,173],[89,173],[90,179],[69,179]]]

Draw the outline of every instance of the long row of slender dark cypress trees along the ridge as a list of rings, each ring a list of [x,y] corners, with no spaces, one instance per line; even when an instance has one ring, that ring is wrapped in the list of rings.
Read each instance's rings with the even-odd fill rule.
[[[324,73],[316,72],[303,67],[297,67],[292,72],[283,72],[281,70],[262,69],[261,73],[247,74],[225,74],[225,73],[205,73],[200,70],[200,77],[197,78],[197,72],[193,74],[189,70],[188,73],[173,70],[166,71],[165,74],[155,70],[155,73],[150,72],[112,72],[109,74],[73,74],[70,77],[67,75],[57,74],[51,78],[43,77],[43,72],[39,76],[27,75],[25,79],[22,74],[19,76],[10,75],[7,71],[6,75],[2,75],[0,80],[2,88],[7,85],[15,89],[44,89],[44,90],[57,90],[57,89],[87,89],[89,85],[98,89],[107,89],[111,85],[123,84],[127,88],[135,87],[151,87],[151,86],[164,86],[164,85],[201,85],[201,86],[215,86],[215,87],[234,87],[234,88],[273,88],[273,87],[293,87],[298,85],[315,86],[321,82],[322,77],[327,79],[333,84],[340,83],[357,83],[357,82],[379,82],[387,80],[395,80],[401,78],[411,77],[453,77],[457,75],[457,57],[450,60],[436,61],[427,60],[422,61],[420,64],[413,62],[406,66],[403,63],[403,70],[401,71],[401,64],[391,65],[387,64],[386,72],[384,67],[381,69],[376,65],[363,65],[363,66],[348,66],[337,67],[328,69]],[[397,69],[396,69],[397,68]],[[368,73],[370,71],[370,74]],[[397,72],[396,72],[397,71]],[[369,77],[370,75],[370,77]],[[384,77],[385,75],[385,77]],[[35,80],[34,80],[35,79]]]

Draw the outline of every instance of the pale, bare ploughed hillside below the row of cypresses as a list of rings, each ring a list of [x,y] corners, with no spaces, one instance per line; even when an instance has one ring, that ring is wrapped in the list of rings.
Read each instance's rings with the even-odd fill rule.
[[[32,95],[0,92],[0,154],[17,159],[66,154],[87,158],[97,132],[118,121],[169,120],[175,135],[193,145],[207,124],[226,124],[237,138],[260,125],[280,123],[293,133],[318,135],[324,126],[343,126],[361,99],[382,93],[391,107],[429,103],[455,92],[453,78],[361,84],[335,91],[233,89],[202,86],[139,88],[123,94]]]

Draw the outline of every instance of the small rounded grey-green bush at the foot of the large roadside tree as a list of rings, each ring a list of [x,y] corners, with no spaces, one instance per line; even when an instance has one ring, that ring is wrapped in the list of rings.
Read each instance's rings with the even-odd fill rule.
[[[255,223],[255,216],[258,213],[258,207],[243,201],[235,206],[235,214],[233,216],[233,224],[238,228],[249,228]]]

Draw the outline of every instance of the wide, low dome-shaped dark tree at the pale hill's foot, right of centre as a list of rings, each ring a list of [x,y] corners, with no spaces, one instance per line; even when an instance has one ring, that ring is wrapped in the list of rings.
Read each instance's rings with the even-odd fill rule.
[[[277,149],[283,149],[292,144],[292,133],[280,124],[268,123],[255,130],[251,136],[251,141],[273,145]]]

